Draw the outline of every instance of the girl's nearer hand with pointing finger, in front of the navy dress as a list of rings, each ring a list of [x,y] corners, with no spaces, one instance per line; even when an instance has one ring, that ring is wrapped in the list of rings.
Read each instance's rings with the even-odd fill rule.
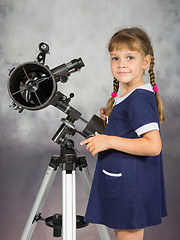
[[[87,145],[86,149],[91,152],[93,156],[96,153],[109,149],[108,147],[109,136],[95,133],[94,137],[90,137],[84,141],[82,141],[81,145]]]

